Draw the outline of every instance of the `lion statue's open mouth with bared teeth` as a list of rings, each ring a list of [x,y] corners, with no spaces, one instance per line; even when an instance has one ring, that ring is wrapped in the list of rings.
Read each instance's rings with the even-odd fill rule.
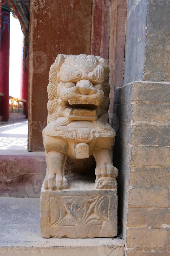
[[[69,100],[66,105],[66,110],[70,115],[75,116],[96,116],[96,109],[100,101],[78,101]]]

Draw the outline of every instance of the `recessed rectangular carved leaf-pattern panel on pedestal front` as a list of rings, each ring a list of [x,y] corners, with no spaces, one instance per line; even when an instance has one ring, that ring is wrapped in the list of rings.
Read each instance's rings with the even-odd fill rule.
[[[103,226],[108,220],[108,196],[50,197],[52,226]]]

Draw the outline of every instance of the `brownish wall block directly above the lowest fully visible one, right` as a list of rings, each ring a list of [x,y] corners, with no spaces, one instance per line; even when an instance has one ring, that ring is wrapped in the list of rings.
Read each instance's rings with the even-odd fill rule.
[[[169,228],[169,208],[129,208],[127,214],[128,227]]]

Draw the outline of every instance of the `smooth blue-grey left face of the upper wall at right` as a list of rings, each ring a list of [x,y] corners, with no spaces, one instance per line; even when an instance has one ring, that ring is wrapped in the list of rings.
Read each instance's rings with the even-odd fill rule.
[[[146,0],[128,1],[124,84],[142,80],[146,10]]]

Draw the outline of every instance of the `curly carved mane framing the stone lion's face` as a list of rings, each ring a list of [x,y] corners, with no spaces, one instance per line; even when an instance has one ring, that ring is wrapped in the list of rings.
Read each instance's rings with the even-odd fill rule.
[[[108,114],[109,109],[109,92],[110,92],[110,85],[109,85],[109,66],[106,63],[106,60],[104,60],[100,56],[94,56],[94,55],[86,55],[86,54],[80,54],[80,55],[63,55],[58,54],[56,57],[56,60],[53,65],[51,65],[50,72],[49,72],[49,84],[47,86],[47,92],[48,92],[48,103],[47,103],[47,109],[48,109],[48,117],[47,117],[47,124],[50,123],[53,120],[56,120],[58,115],[58,95],[57,95],[57,85],[58,85],[58,75],[60,73],[60,67],[64,62],[67,62],[67,65],[71,64],[70,66],[74,67],[74,63],[76,63],[77,58],[82,58],[83,60],[89,61],[95,61],[98,64],[102,64],[104,68],[104,81],[103,81],[103,92],[104,92],[104,98],[101,103],[101,113],[102,115]]]

